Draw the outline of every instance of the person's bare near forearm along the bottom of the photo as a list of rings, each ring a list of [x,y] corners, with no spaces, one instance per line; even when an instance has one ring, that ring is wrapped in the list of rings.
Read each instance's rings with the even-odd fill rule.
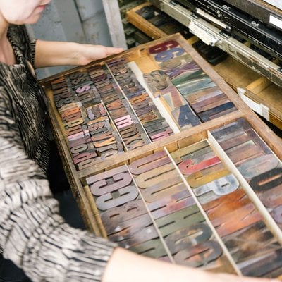
[[[117,247],[106,265],[102,282],[278,282],[268,278],[250,278],[214,274],[187,266],[168,264]]]

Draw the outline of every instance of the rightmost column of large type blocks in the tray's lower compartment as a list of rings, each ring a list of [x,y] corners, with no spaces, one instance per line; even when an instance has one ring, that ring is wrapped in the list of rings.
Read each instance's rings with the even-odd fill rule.
[[[246,121],[241,119],[239,123],[244,124],[245,130],[243,132],[240,128],[236,129],[234,125],[226,125],[226,127],[222,128],[223,132],[228,129],[228,135],[230,136],[234,132],[231,128],[234,128],[235,132],[240,132],[240,135],[234,138],[238,145],[236,146],[234,142],[229,142],[228,145],[228,139],[223,140],[222,137],[219,137],[221,139],[219,144],[223,146],[228,157],[238,167],[240,173],[262,200],[262,203],[265,204],[274,221],[282,227],[278,216],[279,213],[276,212],[279,203],[282,201],[281,193],[276,192],[271,197],[269,196],[271,191],[278,191],[281,187],[281,161],[278,160]],[[220,132],[216,130],[214,135],[219,136]]]

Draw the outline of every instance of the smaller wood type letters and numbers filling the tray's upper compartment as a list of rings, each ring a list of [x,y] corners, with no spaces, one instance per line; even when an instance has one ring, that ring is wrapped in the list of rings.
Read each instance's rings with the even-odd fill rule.
[[[119,58],[51,82],[78,170],[236,110],[176,40],[147,54],[157,69],[142,78]]]

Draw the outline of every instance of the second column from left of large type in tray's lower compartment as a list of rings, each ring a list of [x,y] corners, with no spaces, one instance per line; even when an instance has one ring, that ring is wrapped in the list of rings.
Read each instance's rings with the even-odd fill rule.
[[[195,200],[191,197],[187,186],[183,183],[183,178],[177,173],[175,166],[170,164],[170,159],[166,153],[158,152],[134,161],[130,164],[130,171],[135,176],[135,183],[140,188],[152,218],[156,222],[161,236],[168,243],[168,249],[176,262],[193,265],[191,260],[196,259],[197,266],[211,263],[209,266],[211,268],[215,267],[214,262],[216,259],[221,260],[221,257],[223,257],[221,246],[214,239],[209,226],[204,223],[204,217],[199,207],[195,204]],[[170,179],[170,181],[164,179]],[[196,243],[196,227],[193,226],[200,223],[205,226],[207,233],[202,234],[199,237],[200,242]],[[184,231],[185,233],[183,233],[185,228],[190,232]],[[202,231],[205,232],[206,229],[202,229]],[[178,238],[178,242],[181,242],[179,244],[182,244],[181,251],[176,250],[173,245],[175,241],[171,242],[179,233],[183,234]],[[217,246],[216,250],[219,250],[214,257],[209,255],[211,251],[209,247],[204,249],[200,247],[201,245],[209,246],[213,244]],[[189,254],[188,251],[183,251],[183,249],[189,248],[194,251]],[[206,255],[202,257],[201,252]],[[205,257],[209,257],[210,260],[207,259],[206,261]],[[221,263],[224,264],[223,261]],[[226,265],[230,266],[230,263],[227,261]]]

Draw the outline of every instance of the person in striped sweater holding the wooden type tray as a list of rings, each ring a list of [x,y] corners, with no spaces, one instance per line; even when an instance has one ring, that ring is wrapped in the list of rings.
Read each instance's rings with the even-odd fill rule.
[[[52,197],[46,176],[46,109],[32,66],[85,65],[123,49],[30,40],[24,25],[37,22],[49,1],[0,0],[3,257],[23,269],[32,281],[257,281],[142,257],[88,231],[72,228],[59,216],[58,202]]]

